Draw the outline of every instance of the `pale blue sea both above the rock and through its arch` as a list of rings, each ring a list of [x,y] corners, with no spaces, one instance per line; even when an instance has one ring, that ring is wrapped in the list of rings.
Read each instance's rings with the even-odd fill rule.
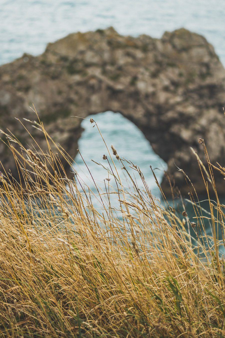
[[[0,0],[0,5],[0,64],[24,52],[38,55],[44,52],[47,43],[69,33],[113,26],[120,34],[137,37],[145,33],[154,38],[160,38],[166,30],[185,27],[204,35],[225,65],[225,2],[222,0]],[[138,164],[152,193],[159,196],[149,165],[158,168],[156,174],[161,180],[166,164],[153,152],[142,132],[119,113],[100,112],[94,119],[108,145],[113,144],[121,157]],[[85,131],[79,149],[93,177],[102,182],[106,172],[91,159],[102,161],[103,141],[88,120],[82,126]],[[76,163],[82,180],[91,184],[79,155]]]

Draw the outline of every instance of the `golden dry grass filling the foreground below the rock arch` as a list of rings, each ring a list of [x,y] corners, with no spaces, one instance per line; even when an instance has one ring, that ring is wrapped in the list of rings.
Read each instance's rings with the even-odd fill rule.
[[[6,172],[0,176],[2,337],[224,337],[225,274],[217,239],[224,214],[217,195],[216,206],[209,200],[209,248],[197,197],[190,194],[193,240],[188,217],[182,221],[160,204],[139,168],[115,149],[115,156],[104,150],[112,179],[104,191],[95,183],[93,197],[79,180],[57,173],[56,154],[22,145],[18,152],[13,140],[6,142],[26,186]],[[125,190],[117,166],[131,166],[144,191],[131,176],[132,189]],[[207,172],[214,185],[210,163]]]

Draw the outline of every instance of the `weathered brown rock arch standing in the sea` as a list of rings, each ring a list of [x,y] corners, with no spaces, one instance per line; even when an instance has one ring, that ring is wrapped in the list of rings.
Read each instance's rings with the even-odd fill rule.
[[[23,55],[0,67],[0,129],[31,144],[15,117],[33,120],[29,106],[34,104],[52,138],[74,158],[82,120],[71,115],[120,112],[142,130],[183,191],[186,183],[177,167],[199,192],[205,189],[190,150],[204,158],[199,138],[211,162],[224,165],[224,102],[224,67],[212,45],[186,29],[165,32],[161,39],[121,36],[113,28],[70,34],[40,56]],[[43,135],[32,133],[45,147]],[[16,175],[3,144],[0,156]],[[166,191],[166,180],[162,186]],[[220,192],[223,187],[218,186]]]

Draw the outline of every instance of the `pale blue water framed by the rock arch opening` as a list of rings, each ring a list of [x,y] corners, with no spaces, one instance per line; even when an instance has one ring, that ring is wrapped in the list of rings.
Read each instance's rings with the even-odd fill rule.
[[[106,161],[103,160],[103,154],[108,155],[108,153],[99,131],[96,127],[93,128],[93,124],[90,124],[89,119],[91,117],[98,124],[111,154],[111,144],[113,144],[120,158],[125,158],[140,167],[151,193],[155,196],[160,196],[159,188],[149,166],[152,166],[157,179],[161,182],[164,170],[167,169],[167,164],[153,151],[149,141],[133,122],[122,114],[111,111],[90,115],[81,123],[84,131],[78,142],[79,150],[97,184],[102,187],[104,179],[108,177],[107,170],[102,167],[107,167]],[[128,182],[126,182],[127,174],[121,169],[122,165],[118,163],[115,156],[113,159],[123,186],[128,187]],[[77,174],[81,181],[95,191],[90,173],[79,154],[75,158],[75,163]],[[128,163],[126,163],[126,168],[132,177],[135,177],[138,187],[142,189],[143,183],[138,173],[131,169]]]

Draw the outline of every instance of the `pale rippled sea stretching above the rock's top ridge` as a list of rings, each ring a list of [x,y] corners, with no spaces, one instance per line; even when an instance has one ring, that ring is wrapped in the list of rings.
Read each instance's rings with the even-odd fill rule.
[[[185,27],[203,34],[225,64],[223,0],[0,0],[0,64],[39,54],[71,32],[114,26],[121,34]]]

